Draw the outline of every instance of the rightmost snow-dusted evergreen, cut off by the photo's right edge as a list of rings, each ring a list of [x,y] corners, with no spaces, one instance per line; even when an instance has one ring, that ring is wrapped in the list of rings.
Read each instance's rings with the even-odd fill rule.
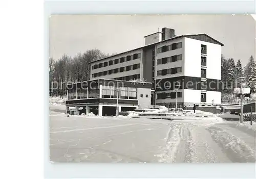
[[[252,56],[248,64],[247,85],[251,88],[251,92],[256,92],[256,64]]]

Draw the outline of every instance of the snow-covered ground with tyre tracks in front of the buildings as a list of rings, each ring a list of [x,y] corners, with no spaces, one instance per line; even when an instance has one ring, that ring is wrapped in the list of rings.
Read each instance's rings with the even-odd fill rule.
[[[70,116],[50,107],[53,162],[255,162],[253,123]]]

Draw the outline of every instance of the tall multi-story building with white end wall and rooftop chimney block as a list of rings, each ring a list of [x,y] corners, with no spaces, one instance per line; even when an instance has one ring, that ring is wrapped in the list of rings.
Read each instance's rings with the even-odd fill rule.
[[[91,80],[152,83],[151,103],[178,107],[221,103],[221,47],[207,34],[163,28],[145,46],[91,62]]]

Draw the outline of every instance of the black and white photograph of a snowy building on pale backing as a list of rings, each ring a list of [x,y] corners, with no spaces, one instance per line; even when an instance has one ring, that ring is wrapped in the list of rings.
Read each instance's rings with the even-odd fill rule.
[[[51,15],[49,160],[254,163],[251,15]]]

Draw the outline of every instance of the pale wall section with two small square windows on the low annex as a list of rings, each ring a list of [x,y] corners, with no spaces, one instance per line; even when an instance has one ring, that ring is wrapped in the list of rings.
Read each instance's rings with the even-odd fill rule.
[[[140,95],[143,95],[141,97]],[[148,95],[146,97],[146,95]],[[137,88],[138,109],[147,109],[151,106],[151,89]]]

